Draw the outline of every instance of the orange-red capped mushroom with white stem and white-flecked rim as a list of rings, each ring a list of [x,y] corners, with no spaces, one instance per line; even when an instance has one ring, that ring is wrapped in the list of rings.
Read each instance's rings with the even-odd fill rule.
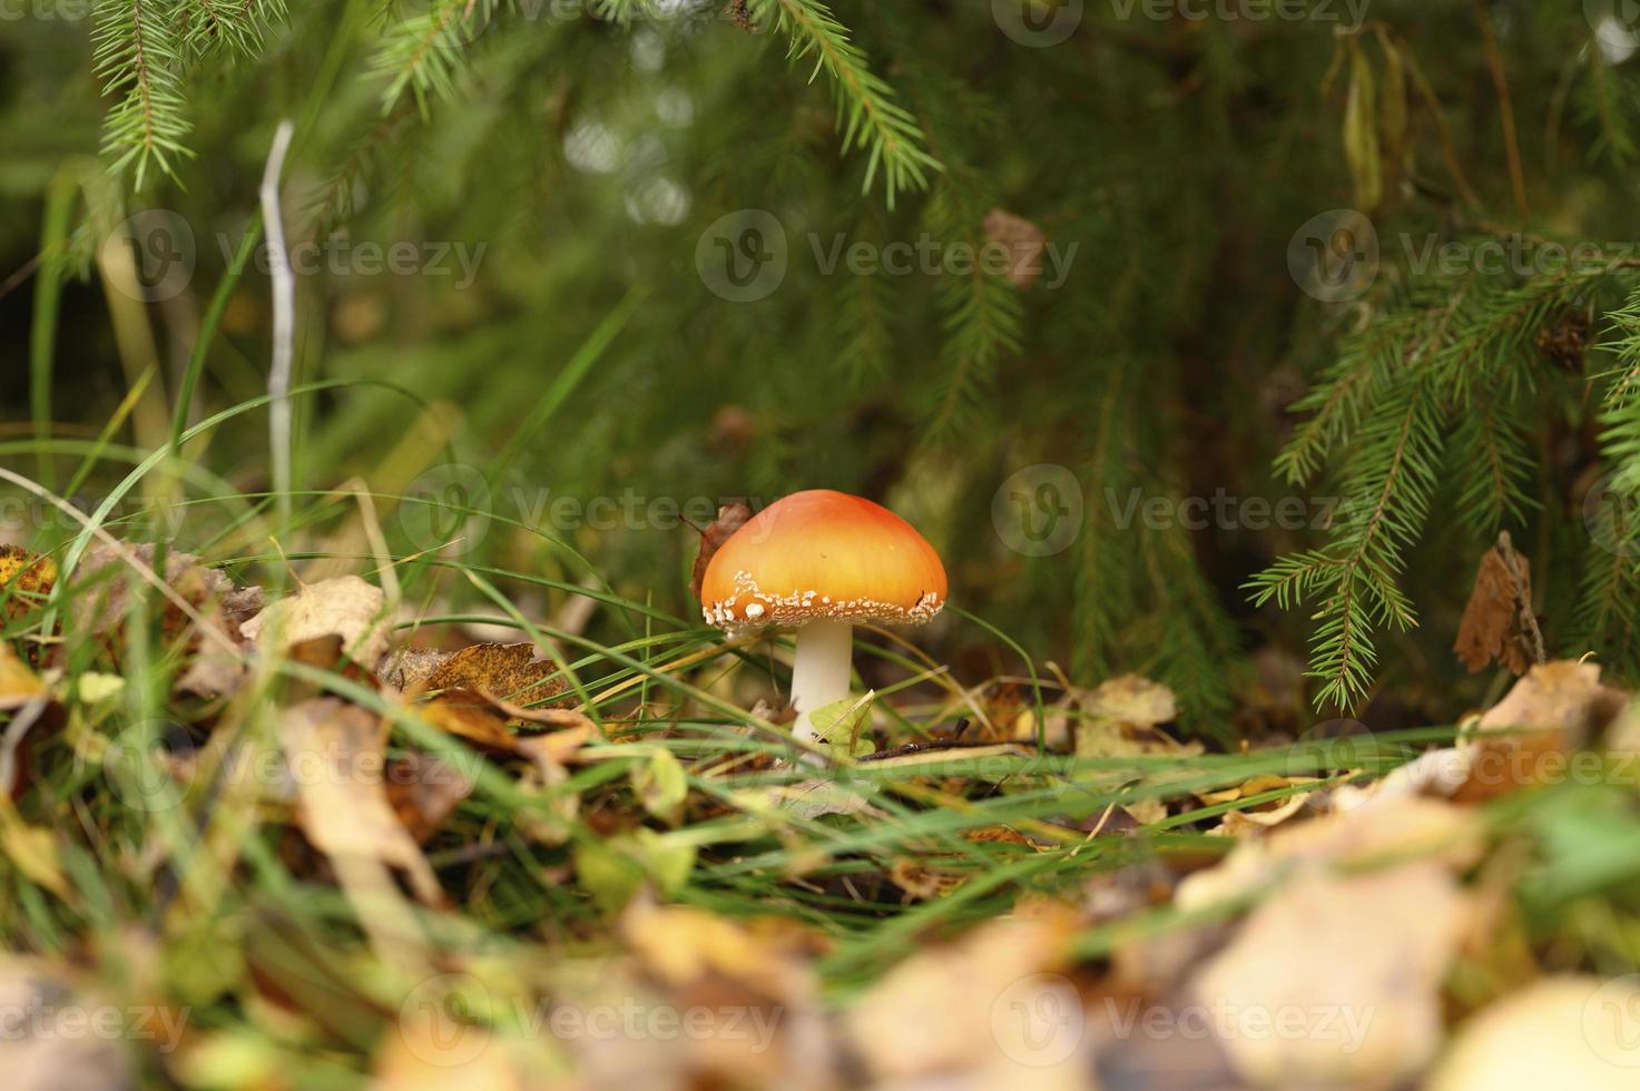
[[[922,625],[945,605],[945,566],[910,523],[856,495],[810,489],[763,509],[707,564],[700,607],[727,630],[797,630],[792,707],[809,715],[848,696],[854,622]]]

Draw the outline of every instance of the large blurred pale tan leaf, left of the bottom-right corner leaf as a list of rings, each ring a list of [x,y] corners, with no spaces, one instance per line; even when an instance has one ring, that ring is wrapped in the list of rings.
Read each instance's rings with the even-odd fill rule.
[[[1438,861],[1305,871],[1251,912],[1192,978],[1189,997],[1214,1012],[1250,1084],[1401,1086],[1440,1045],[1440,984],[1466,912]]]

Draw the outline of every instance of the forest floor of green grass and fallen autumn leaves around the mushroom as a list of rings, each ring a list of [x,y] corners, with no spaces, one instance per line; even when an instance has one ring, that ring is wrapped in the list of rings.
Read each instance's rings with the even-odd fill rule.
[[[595,573],[395,564],[344,500],[284,558],[249,517],[202,556],[95,520],[0,553],[21,1086],[1640,1073],[1640,710],[1594,663],[1456,725],[1225,748],[1141,678],[959,679],[863,632],[895,681],[805,753],[787,641]]]

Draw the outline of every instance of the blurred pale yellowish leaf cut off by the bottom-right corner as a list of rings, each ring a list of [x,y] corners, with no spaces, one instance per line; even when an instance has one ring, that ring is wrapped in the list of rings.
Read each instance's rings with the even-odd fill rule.
[[[1430,1091],[1640,1084],[1640,979],[1537,981],[1481,1009],[1435,1066]]]

